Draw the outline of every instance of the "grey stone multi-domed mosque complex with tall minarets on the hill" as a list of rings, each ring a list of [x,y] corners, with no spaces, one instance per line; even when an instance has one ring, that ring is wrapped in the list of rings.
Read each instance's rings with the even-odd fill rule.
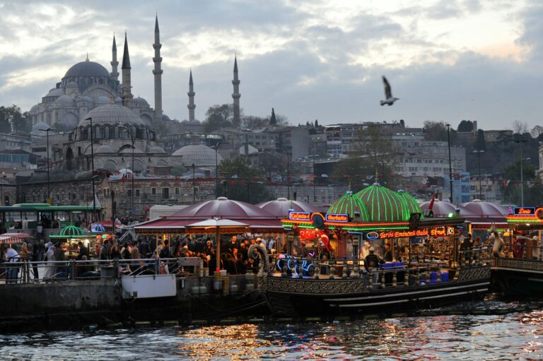
[[[162,110],[163,71],[160,47],[162,45],[157,17],[153,43],[154,109],[144,98],[134,98],[132,95],[126,34],[124,35],[120,81],[114,36],[111,71],[107,71],[104,66],[90,61],[87,57],[85,61],[71,66],[62,80],[42,97],[42,101],[30,109],[33,134],[47,135],[49,138],[49,131],[69,132],[68,141],[50,145],[55,148],[52,153],[59,155],[54,157],[56,159],[54,159],[53,167],[66,170],[91,170],[94,167],[94,169],[102,168],[110,171],[131,168],[135,172],[141,172],[150,167],[186,163],[183,161],[183,155],[187,153],[187,150],[168,155],[156,133],[156,129],[163,126],[165,119],[169,120],[163,115]],[[234,65],[235,91],[232,96],[237,110],[235,115],[239,120],[237,59]],[[194,105],[192,72],[187,94],[189,95],[189,105],[187,105],[189,120],[194,120],[196,106]],[[52,150],[52,148],[49,149]],[[216,155],[215,150],[211,152],[209,150],[208,153]],[[191,161],[194,162],[194,160]],[[206,162],[210,163],[209,160]],[[215,164],[215,159],[211,164]],[[206,166],[211,164],[206,164]]]

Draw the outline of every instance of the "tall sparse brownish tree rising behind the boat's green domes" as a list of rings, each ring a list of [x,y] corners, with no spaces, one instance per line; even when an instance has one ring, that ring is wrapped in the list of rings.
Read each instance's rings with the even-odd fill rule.
[[[381,182],[391,184],[391,170],[399,159],[391,137],[380,136],[380,126],[370,124],[358,133],[352,143],[353,151],[349,158],[340,160],[334,176],[351,182],[352,189],[361,189],[363,183],[378,174]]]

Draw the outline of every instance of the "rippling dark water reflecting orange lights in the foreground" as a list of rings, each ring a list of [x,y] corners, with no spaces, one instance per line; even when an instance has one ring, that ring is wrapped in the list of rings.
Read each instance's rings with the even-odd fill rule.
[[[543,360],[542,336],[543,310],[538,309],[484,316],[20,333],[0,335],[0,360]]]

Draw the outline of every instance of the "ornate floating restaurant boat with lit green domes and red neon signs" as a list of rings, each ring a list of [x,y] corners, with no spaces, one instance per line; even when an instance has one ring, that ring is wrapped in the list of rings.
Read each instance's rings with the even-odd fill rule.
[[[288,254],[310,244],[307,258],[282,255],[262,294],[276,315],[396,313],[483,297],[491,268],[481,249],[460,251],[465,220],[424,218],[402,191],[373,184],[347,192],[321,213],[292,212],[283,220]],[[379,266],[362,256],[386,249]],[[385,246],[387,244],[387,246]],[[334,257],[322,259],[333,250]],[[314,253],[313,253],[314,252]],[[311,257],[313,256],[313,258]],[[282,258],[281,258],[282,257]],[[368,265],[364,264],[368,261]]]

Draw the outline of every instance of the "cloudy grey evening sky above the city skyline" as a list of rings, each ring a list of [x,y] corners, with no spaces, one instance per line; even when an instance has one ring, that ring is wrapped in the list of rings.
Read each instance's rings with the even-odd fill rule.
[[[543,125],[539,0],[0,0],[0,105],[29,110],[87,53],[110,70],[114,32],[120,68],[126,31],[132,93],[153,107],[156,14],[172,119],[188,118],[190,69],[197,119],[232,102],[237,54],[247,115]],[[392,107],[379,105],[383,75],[400,98]]]

